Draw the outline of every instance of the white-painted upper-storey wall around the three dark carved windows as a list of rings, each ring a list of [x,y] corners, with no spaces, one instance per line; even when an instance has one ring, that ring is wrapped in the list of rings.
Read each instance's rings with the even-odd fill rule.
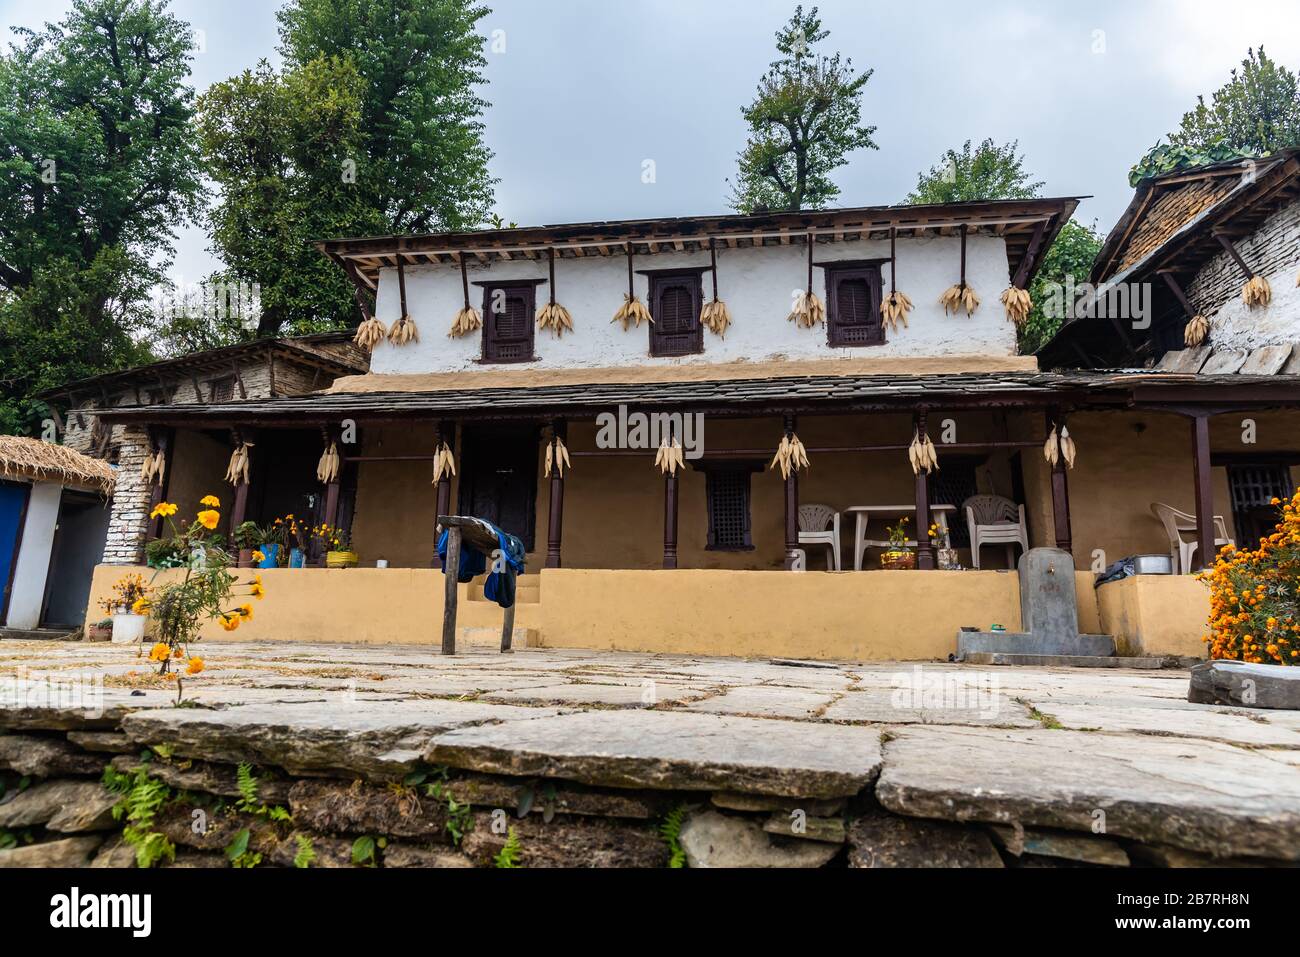
[[[627,257],[623,255],[563,259],[555,263],[555,298],[573,316],[575,330],[562,338],[537,330],[536,360],[524,368],[599,368],[619,365],[694,365],[783,359],[842,359],[846,356],[1011,356],[1015,328],[1006,319],[998,298],[1010,285],[1006,246],[1001,238],[972,235],[967,239],[966,280],[982,299],[974,316],[944,315],[940,294],[961,274],[961,239],[937,237],[898,239],[898,291],[906,293],[914,309],[906,329],[888,332],[887,342],[866,347],[832,347],[824,326],[800,329],[786,321],[793,298],[807,281],[805,246],[764,246],[718,251],[718,294],[727,302],[733,325],[724,338],[705,332],[702,354],[684,358],[650,356],[645,325],[627,330],[611,322],[627,293]],[[855,259],[888,259],[888,241],[818,243],[815,263]],[[641,270],[707,267],[707,252],[659,252],[638,255]],[[889,291],[889,265],[883,267],[884,293]],[[546,280],[545,259],[469,267],[471,282]],[[826,302],[826,276],[814,269],[814,290]],[[482,333],[450,338],[447,332],[463,304],[460,268],[456,265],[412,267],[406,270],[407,309],[420,330],[420,341],[406,346],[384,342],[376,347],[370,372],[437,373],[482,369]],[[712,290],[703,276],[705,300]],[[649,280],[636,276],[636,291],[647,300]],[[537,304],[547,300],[549,287],[537,287]],[[482,289],[471,286],[471,304],[482,311]],[[380,277],[376,315],[385,325],[399,317],[396,269]],[[520,368],[520,365],[515,365]]]

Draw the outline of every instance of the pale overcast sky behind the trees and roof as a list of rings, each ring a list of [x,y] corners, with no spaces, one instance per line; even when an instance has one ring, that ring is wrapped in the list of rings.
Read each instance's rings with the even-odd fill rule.
[[[775,56],[788,0],[485,0],[484,96],[497,209],[520,225],[725,212],[740,107]],[[0,25],[39,26],[70,0],[0,0]],[[173,0],[202,31],[198,90],[276,57],[274,0]],[[1092,0],[980,4],[823,0],[838,49],[875,75],[864,121],[879,151],[852,155],[838,205],[900,202],[965,139],[1019,140],[1048,195],[1092,195],[1079,216],[1106,230],[1128,202],[1128,168],[1228,78],[1251,46],[1300,65],[1295,0]],[[654,160],[655,182],[642,182]],[[214,260],[179,230],[173,273]]]

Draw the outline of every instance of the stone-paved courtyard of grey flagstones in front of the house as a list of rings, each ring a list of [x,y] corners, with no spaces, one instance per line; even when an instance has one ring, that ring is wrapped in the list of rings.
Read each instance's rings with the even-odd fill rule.
[[[722,807],[874,796],[904,818],[1109,835],[1166,858],[1300,859],[1300,713],[1188,703],[1180,670],[196,651],[207,670],[185,681],[192,705],[174,707],[174,687],[134,648],[0,642],[0,728],[376,783],[432,765],[705,792]],[[66,700],[87,687],[90,698]]]

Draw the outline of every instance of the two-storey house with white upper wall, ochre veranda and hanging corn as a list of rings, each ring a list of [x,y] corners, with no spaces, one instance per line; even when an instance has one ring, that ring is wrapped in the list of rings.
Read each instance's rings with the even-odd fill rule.
[[[1108,599],[1105,589],[1093,593],[1091,570],[1136,553],[1176,557],[1152,514],[1161,502],[1195,515],[1196,562],[1205,560],[1222,511],[1210,456],[1239,442],[1239,416],[1225,413],[1248,411],[1273,447],[1300,450],[1297,378],[1131,360],[1106,369],[1087,346],[1069,345],[1076,334],[1130,341],[1122,322],[1134,320],[1115,317],[1067,325],[1043,367],[1018,355],[1000,298],[1028,287],[1075,205],[875,207],[324,242],[354,280],[361,312],[384,330],[410,320],[417,339],[380,342],[367,374],[320,393],[117,408],[105,420],[237,436],[254,443],[255,463],[273,449],[300,450],[285,467],[255,469],[234,490],[230,520],[251,515],[250,502],[298,502],[315,488],[312,516],[348,527],[368,567],[269,572],[278,602],[260,612],[268,636],[432,641],[442,590],[430,570],[437,516],[459,512],[525,541],[529,571],[542,571],[521,585],[519,623],[545,644],[946,657],[959,627],[1014,627],[1019,616],[1017,579],[997,571],[1014,553],[983,549],[976,560],[971,547],[966,506],[993,495],[1013,521],[1023,508],[1026,544],[1072,554],[1087,631],[1114,632],[1130,649],[1195,651],[1199,583],[1164,576],[1156,592],[1144,583],[1140,594],[1124,586]],[[962,283],[983,302],[954,315],[940,298]],[[824,322],[796,321],[792,309],[810,289]],[[881,306],[894,290],[914,307],[890,324]],[[629,294],[653,322],[611,321]],[[715,296],[733,319],[725,329],[705,321]],[[534,316],[550,302],[566,307],[571,330],[540,328]],[[482,328],[448,335],[465,308]],[[771,468],[783,441],[796,438],[811,467]],[[685,458],[667,475],[655,467],[666,442],[681,443]],[[313,485],[315,456],[330,443],[343,469]],[[937,468],[914,468],[909,456],[930,446]],[[447,452],[455,472],[443,468]],[[569,464],[547,467],[556,456]],[[172,468],[198,490],[218,482],[224,465],[216,454],[191,463],[177,455]],[[827,508],[802,508],[812,505]],[[918,571],[871,571],[889,550],[884,525],[902,519]],[[932,521],[946,528],[935,542],[918,540]],[[831,534],[814,544],[823,527]],[[948,545],[982,571],[936,571],[937,546]],[[386,567],[374,568],[381,559]],[[785,571],[823,562],[863,571]],[[120,570],[101,571],[109,581]],[[482,623],[495,620],[484,611]],[[469,614],[467,624],[477,623]]]

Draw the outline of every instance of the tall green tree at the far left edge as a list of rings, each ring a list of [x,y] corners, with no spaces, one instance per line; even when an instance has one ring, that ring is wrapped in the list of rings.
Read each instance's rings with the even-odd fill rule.
[[[0,424],[139,360],[148,290],[202,200],[192,38],[156,0],[75,0],[0,55]]]

